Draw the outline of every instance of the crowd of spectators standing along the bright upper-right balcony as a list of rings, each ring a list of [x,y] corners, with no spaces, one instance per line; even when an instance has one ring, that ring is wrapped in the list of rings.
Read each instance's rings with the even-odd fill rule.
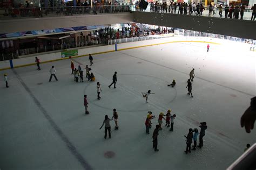
[[[231,5],[228,6],[227,4],[225,5],[225,8],[223,7],[223,4],[220,4],[219,6],[217,6],[217,4],[212,4],[210,3],[209,6],[203,6],[203,4],[199,4],[199,3],[185,3],[185,2],[171,2],[170,5],[167,5],[166,2],[164,2],[163,4],[161,3],[150,3],[150,11],[154,11],[154,12],[163,12],[163,13],[177,13],[177,14],[181,14],[181,15],[192,15],[193,13],[195,15],[202,15],[203,12],[205,11],[205,8],[208,8],[208,16],[212,17],[212,14],[215,15],[215,13],[217,13],[217,9],[219,10],[219,16],[220,18],[222,17],[222,12],[223,10],[225,11],[225,18],[235,18],[235,19],[239,19],[239,13],[240,13],[240,19],[243,19],[244,16],[244,12],[246,10],[246,6],[245,4],[240,4],[240,5]],[[248,8],[247,8],[248,9]],[[251,16],[251,20],[255,20],[255,15],[256,15],[256,4],[254,4],[251,8],[252,10],[252,16]]]

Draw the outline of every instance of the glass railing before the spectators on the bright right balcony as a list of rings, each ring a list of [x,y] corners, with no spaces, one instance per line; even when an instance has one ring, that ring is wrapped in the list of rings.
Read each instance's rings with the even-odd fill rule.
[[[209,10],[208,6],[204,6],[197,11],[196,8],[189,8],[187,6],[186,8],[177,8],[175,9],[174,6],[167,6],[165,9],[153,8],[148,5],[146,10],[140,10],[138,5],[132,5],[131,10],[132,11],[142,11],[142,12],[157,12],[157,13],[172,13],[174,15],[191,15],[191,16],[203,16],[203,17],[216,17],[216,18],[228,18],[228,19],[244,19],[244,20],[254,20],[256,18],[256,14],[252,15],[253,10],[251,9],[245,9],[244,12],[241,12],[241,9],[228,9],[228,11],[225,11],[225,6],[223,6],[222,10],[220,10],[218,7],[213,8],[213,10]],[[170,7],[170,8],[169,8]],[[231,12],[230,12],[231,11]],[[241,17],[242,16],[242,17]],[[253,18],[254,17],[254,18]]]

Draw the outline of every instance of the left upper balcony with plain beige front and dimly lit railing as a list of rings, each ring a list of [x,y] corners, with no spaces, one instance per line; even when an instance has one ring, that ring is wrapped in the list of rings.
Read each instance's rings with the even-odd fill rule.
[[[0,33],[130,23],[130,5],[0,9]]]

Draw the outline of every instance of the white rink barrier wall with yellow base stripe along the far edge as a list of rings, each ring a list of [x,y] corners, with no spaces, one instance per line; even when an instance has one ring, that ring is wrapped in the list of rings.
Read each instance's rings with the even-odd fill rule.
[[[154,40],[145,40],[145,41],[136,41],[136,42],[127,42],[123,44],[117,44],[117,51],[122,51],[126,49],[132,48],[142,48],[147,46],[153,45],[161,45],[161,44],[169,44],[175,42],[200,42],[200,43],[208,43],[208,44],[219,44],[221,40],[219,39],[212,39],[207,37],[172,37],[172,38],[162,38],[162,39],[154,39]],[[72,49],[72,48],[71,48]],[[69,50],[71,50],[69,49]],[[78,55],[72,56],[72,58],[87,56],[89,54],[102,54],[102,53],[109,53],[115,51],[115,45],[106,45],[106,46],[97,46],[97,47],[89,47],[78,49]],[[36,65],[35,63],[35,56],[37,56],[41,63],[45,62],[53,62],[59,60],[66,60],[69,58],[62,58],[61,52],[50,53],[50,54],[39,54],[33,55],[25,58],[19,58],[12,60],[14,68],[18,67],[25,67]],[[5,60],[0,62],[0,70],[10,69],[10,61]]]

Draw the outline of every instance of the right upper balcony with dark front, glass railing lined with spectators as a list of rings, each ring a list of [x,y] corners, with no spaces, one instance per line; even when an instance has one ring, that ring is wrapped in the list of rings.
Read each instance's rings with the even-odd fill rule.
[[[185,30],[201,31],[206,33],[221,34],[225,36],[256,39],[256,7],[252,9],[233,9],[227,7],[212,8],[201,6],[199,11],[193,11],[191,6],[183,6],[176,9],[161,9],[161,6],[148,5],[146,10],[140,10],[138,6],[133,5],[134,22],[151,25],[160,25],[167,27],[175,27]],[[193,12],[192,12],[193,11]],[[222,11],[222,12],[221,12]],[[241,15],[242,14],[242,15]]]

